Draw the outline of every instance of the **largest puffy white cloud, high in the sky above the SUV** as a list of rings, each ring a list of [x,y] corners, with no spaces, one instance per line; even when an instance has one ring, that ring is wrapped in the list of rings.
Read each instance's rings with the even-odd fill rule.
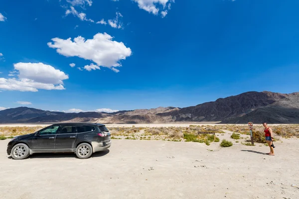
[[[98,33],[92,39],[85,39],[78,36],[72,41],[71,38],[60,39],[53,38],[49,42],[50,48],[56,49],[56,52],[66,57],[80,57],[85,60],[93,61],[98,67],[115,68],[122,66],[120,61],[131,56],[132,51],[126,47],[123,42],[113,41],[113,37],[107,33]],[[84,67],[86,70],[92,70],[92,67]],[[96,68],[99,69],[99,68]]]

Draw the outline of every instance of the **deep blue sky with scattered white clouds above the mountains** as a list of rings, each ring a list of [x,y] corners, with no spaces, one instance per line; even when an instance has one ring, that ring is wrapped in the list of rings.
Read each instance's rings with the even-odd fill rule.
[[[298,92],[298,8],[298,0],[0,0],[0,107],[128,110]]]

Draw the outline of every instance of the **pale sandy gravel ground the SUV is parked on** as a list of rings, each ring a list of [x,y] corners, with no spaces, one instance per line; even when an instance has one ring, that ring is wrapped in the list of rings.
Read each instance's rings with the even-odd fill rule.
[[[87,160],[13,160],[8,141],[0,140],[0,199],[299,199],[298,139],[276,142],[276,156],[260,144],[113,140]]]

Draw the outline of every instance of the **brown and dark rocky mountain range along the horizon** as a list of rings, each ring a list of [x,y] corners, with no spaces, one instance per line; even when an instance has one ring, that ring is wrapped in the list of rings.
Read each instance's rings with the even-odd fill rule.
[[[299,123],[299,92],[247,92],[189,106],[107,112],[65,113],[30,107],[0,111],[0,123]]]

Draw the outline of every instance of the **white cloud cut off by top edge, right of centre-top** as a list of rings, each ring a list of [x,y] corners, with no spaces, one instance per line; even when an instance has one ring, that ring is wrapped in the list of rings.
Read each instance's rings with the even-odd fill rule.
[[[138,3],[139,8],[148,11],[154,15],[157,15],[159,12],[162,17],[165,17],[167,11],[170,9],[171,3],[174,0],[134,0]]]

